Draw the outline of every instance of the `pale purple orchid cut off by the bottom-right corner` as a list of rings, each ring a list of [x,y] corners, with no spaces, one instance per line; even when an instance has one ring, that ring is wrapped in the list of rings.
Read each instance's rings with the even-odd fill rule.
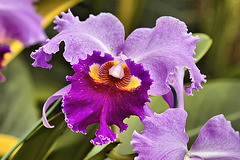
[[[131,144],[138,153],[135,159],[164,160],[237,160],[240,159],[240,137],[223,115],[218,115],[202,127],[198,138],[187,150],[185,133],[187,112],[181,108],[146,117],[142,135],[133,133]]]

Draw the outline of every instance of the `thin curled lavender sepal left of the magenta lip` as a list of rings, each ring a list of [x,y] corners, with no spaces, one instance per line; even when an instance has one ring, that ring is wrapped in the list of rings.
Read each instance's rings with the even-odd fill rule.
[[[49,97],[47,99],[47,101],[44,103],[43,106],[43,111],[42,111],[42,116],[43,116],[43,125],[47,128],[53,128],[54,126],[51,126],[48,123],[47,117],[46,117],[46,111],[48,109],[48,107],[57,99],[62,98],[63,95],[65,95],[71,88],[71,85],[67,85],[66,87],[60,89],[59,91],[57,91],[54,95],[52,95],[51,97]]]

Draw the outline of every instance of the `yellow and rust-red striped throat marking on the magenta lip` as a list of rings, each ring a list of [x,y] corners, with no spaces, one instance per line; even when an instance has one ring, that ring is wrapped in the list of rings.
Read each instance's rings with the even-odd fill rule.
[[[135,76],[131,76],[126,63],[122,64],[124,77],[119,79],[109,75],[109,69],[118,64],[118,61],[109,61],[103,65],[93,64],[90,66],[89,76],[94,82],[104,85],[115,85],[118,89],[124,91],[134,91],[141,85],[141,80]]]

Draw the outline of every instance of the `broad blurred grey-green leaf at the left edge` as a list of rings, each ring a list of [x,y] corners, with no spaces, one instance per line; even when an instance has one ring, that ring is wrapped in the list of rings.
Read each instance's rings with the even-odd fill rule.
[[[0,83],[0,132],[22,137],[38,120],[33,82],[20,57],[3,74],[6,81]]]

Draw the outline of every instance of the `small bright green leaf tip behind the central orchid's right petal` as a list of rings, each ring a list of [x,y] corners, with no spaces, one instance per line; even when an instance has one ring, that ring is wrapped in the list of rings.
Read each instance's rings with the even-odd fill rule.
[[[196,45],[196,55],[194,56],[194,58],[196,59],[196,63],[202,59],[202,57],[207,53],[207,51],[209,50],[209,48],[212,45],[212,39],[204,33],[194,33],[193,36],[197,36],[200,38],[200,41],[197,42]]]

